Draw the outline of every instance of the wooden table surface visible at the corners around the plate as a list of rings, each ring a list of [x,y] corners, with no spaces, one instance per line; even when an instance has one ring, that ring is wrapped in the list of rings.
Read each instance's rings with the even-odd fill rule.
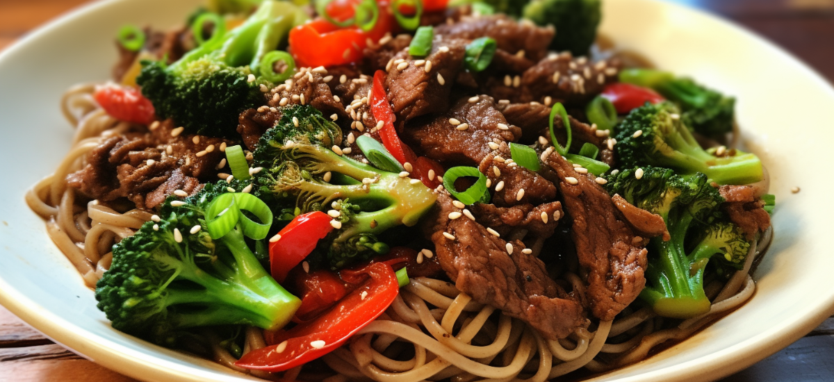
[[[741,23],[834,82],[834,0],[677,0]],[[0,50],[85,0],[0,0]],[[834,380],[834,319],[722,382]],[[0,382],[128,382],[78,357],[0,306]]]

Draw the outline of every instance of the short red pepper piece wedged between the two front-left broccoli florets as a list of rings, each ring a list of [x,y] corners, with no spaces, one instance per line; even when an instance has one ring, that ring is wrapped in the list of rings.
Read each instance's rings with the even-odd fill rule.
[[[296,216],[281,229],[278,240],[269,241],[269,268],[276,281],[283,283],[289,270],[301,263],[313,252],[319,239],[333,230],[331,220],[321,211]]]

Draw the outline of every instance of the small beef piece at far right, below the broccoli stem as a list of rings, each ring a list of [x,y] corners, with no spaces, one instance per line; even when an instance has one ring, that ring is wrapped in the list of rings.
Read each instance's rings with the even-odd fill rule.
[[[765,202],[756,198],[755,189],[751,186],[724,185],[718,188],[718,192],[726,199],[721,209],[729,215],[731,222],[739,226],[747,240],[754,239],[756,234],[771,226],[771,215],[762,208]]]

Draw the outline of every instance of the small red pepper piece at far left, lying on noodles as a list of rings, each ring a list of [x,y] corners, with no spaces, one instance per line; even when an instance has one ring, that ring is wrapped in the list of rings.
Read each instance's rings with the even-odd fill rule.
[[[153,103],[137,88],[108,83],[97,87],[93,98],[113,118],[143,124],[150,124],[156,119]]]

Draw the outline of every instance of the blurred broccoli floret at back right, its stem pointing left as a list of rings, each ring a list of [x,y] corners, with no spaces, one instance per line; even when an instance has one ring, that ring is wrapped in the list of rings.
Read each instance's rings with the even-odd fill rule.
[[[681,108],[683,123],[697,133],[719,138],[732,131],[736,98],[706,88],[691,78],[654,69],[625,69],[620,72],[620,81],[663,94]]]

